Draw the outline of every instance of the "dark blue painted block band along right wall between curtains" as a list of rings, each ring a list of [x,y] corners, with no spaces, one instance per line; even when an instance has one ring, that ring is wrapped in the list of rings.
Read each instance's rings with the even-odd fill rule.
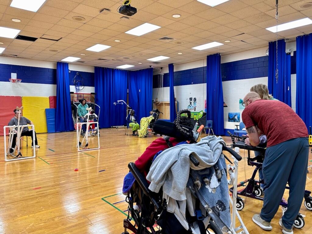
[[[222,81],[268,76],[268,56],[221,64]],[[291,74],[296,74],[296,51],[291,56]],[[206,83],[206,66],[173,73],[174,86]],[[158,88],[158,75],[153,76],[153,88]],[[163,75],[163,87],[169,87],[169,73]]]

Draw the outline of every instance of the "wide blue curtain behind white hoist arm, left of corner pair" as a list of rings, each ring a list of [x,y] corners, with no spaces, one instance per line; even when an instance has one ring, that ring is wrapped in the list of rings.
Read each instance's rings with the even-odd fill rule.
[[[100,106],[100,128],[110,128],[126,123],[126,105],[114,105],[117,100],[127,100],[128,71],[106,67],[94,68],[95,103]]]

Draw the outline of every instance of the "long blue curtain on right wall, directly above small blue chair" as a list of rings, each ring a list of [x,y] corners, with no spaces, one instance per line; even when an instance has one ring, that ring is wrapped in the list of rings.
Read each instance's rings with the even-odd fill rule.
[[[224,135],[221,55],[207,56],[207,120],[216,135]]]

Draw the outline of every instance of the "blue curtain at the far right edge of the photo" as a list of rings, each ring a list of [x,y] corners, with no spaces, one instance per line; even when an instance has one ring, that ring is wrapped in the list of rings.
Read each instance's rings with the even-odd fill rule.
[[[296,38],[296,113],[312,126],[312,34]]]

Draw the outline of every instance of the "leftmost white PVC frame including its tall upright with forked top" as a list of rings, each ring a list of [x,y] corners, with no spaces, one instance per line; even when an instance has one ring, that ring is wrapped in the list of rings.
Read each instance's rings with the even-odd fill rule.
[[[16,110],[23,110],[23,107],[16,107]],[[35,139],[35,127],[34,125],[19,125],[20,121],[20,112],[18,113],[18,122],[17,125],[13,126],[4,126],[3,132],[4,132],[4,160],[7,161],[15,161],[15,160],[21,160],[21,159],[27,159],[27,158],[35,158],[36,157],[36,150],[35,150],[35,141],[33,141],[33,156],[30,157],[23,157],[21,153],[21,134],[24,127],[31,127],[32,128],[32,136],[33,139]],[[8,144],[6,139],[6,129],[9,129],[9,135],[8,135]],[[14,135],[16,136],[16,145],[13,149],[13,151],[10,151],[12,148],[12,140]],[[16,152],[17,151],[17,152]],[[17,153],[17,154],[16,154]],[[7,156],[10,155],[13,158],[7,158]]]

